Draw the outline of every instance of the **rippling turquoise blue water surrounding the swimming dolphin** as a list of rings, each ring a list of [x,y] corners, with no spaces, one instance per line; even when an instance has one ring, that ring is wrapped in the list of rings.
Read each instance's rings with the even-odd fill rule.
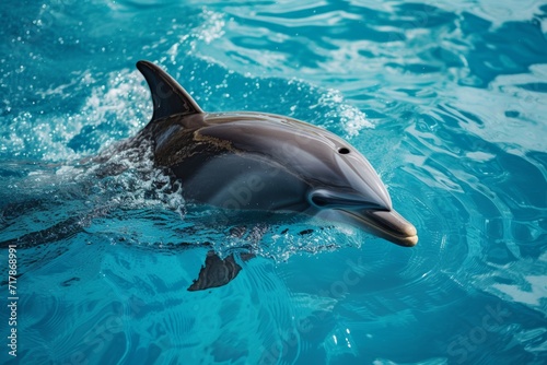
[[[26,245],[16,326],[0,255],[1,363],[547,363],[545,2],[8,0],[0,14],[0,242]],[[299,220],[233,235],[150,155],[97,174],[85,157],[152,114],[139,59],[205,110],[346,138],[420,242]],[[188,292],[205,242],[258,256]]]

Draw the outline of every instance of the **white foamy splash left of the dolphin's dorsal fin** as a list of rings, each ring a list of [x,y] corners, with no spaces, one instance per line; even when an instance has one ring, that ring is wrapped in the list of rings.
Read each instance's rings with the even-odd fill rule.
[[[11,121],[9,132],[0,134],[0,153],[7,157],[39,161],[69,161],[96,154],[120,138],[133,136],[149,120],[151,103],[137,71],[109,72],[106,84],[93,86],[91,74],[74,78],[68,84],[40,92],[46,98],[65,94],[75,83],[80,90],[91,86],[90,95],[77,113],[51,114],[24,111]]]

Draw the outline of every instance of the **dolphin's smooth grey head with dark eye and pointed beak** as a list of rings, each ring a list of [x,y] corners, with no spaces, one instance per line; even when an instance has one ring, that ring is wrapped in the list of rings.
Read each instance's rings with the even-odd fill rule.
[[[385,186],[366,158],[346,141],[323,137],[326,168],[317,170],[313,178],[310,203],[325,216],[342,220],[400,246],[415,246],[416,227],[393,209]]]

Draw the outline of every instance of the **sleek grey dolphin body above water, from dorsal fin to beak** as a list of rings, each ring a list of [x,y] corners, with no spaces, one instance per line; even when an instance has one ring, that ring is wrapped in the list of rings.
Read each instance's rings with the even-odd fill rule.
[[[324,129],[265,113],[206,113],[158,66],[137,62],[154,104],[141,131],[155,164],[181,180],[188,201],[228,210],[299,212],[349,223],[394,244],[418,242],[376,172]]]

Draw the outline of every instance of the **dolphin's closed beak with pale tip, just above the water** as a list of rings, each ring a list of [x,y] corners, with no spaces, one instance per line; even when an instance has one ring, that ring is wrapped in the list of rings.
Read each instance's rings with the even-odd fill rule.
[[[359,226],[396,245],[412,247],[418,243],[416,227],[395,210],[345,210],[339,211],[357,221]]]

